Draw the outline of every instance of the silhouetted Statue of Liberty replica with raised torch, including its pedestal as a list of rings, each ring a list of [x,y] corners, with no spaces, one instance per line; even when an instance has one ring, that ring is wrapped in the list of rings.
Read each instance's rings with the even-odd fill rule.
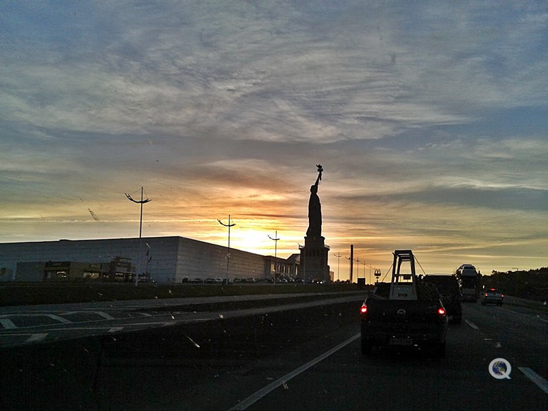
[[[325,245],[325,238],[321,235],[321,203],[318,197],[318,186],[321,182],[323,167],[316,165],[318,177],[316,182],[310,186],[310,199],[308,200],[308,229],[304,238],[304,247],[301,248],[301,263],[299,277],[306,282],[313,280],[329,282],[329,246]]]

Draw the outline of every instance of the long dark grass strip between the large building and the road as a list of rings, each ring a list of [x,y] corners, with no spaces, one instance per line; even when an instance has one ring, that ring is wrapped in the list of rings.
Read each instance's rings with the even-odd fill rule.
[[[90,283],[3,283],[0,306],[86,303],[135,299],[216,297],[226,295],[270,295],[301,292],[350,292],[358,284],[284,285],[179,285],[179,284],[90,284]]]

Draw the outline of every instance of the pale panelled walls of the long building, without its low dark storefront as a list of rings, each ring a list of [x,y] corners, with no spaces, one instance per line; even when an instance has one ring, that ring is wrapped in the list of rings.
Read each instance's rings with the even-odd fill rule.
[[[148,254],[147,254],[148,253]],[[0,281],[40,281],[33,275],[17,273],[18,263],[47,261],[110,262],[117,256],[129,258],[137,266],[138,238],[105,240],[59,240],[0,243]],[[229,277],[269,278],[273,257],[230,249]],[[147,266],[147,261],[150,260]],[[284,259],[277,258],[281,264]],[[227,247],[179,236],[146,237],[141,240],[140,273],[148,272],[159,283],[181,283],[182,279],[221,277],[227,273]]]

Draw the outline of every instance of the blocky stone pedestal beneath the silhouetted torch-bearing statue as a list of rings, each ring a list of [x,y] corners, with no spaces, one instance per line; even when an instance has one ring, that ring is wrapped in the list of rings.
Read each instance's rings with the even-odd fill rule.
[[[324,237],[304,238],[304,247],[301,247],[301,266],[300,271],[306,282],[319,280],[329,282],[329,265],[327,257],[329,256],[329,247],[325,245]]]

